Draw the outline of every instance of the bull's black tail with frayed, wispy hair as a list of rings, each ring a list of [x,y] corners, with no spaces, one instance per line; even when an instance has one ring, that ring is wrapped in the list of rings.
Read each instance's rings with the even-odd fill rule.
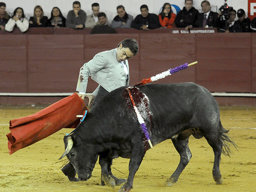
[[[227,155],[230,157],[230,154],[233,154],[233,152],[230,150],[230,145],[233,145],[236,149],[238,148],[238,146],[236,145],[235,142],[233,142],[230,137],[227,136],[227,133],[229,132],[229,130],[223,128],[223,126],[221,125],[220,122],[220,126],[219,126],[219,134],[220,134],[220,139],[223,143],[221,152],[224,155]]]

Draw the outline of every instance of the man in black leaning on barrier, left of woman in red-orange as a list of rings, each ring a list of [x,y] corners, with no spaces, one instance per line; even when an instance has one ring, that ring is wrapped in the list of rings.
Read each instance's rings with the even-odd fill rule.
[[[148,6],[140,6],[140,15],[135,17],[134,21],[131,24],[131,27],[134,29],[142,29],[148,31],[149,29],[160,28],[160,23],[157,15],[148,13]]]

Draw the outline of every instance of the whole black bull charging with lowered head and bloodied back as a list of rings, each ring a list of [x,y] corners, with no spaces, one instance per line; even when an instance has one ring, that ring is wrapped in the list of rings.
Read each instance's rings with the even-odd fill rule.
[[[212,175],[221,184],[221,152],[229,155],[230,144],[235,147],[236,144],[221,125],[218,104],[211,93],[194,83],[146,84],[138,88],[149,100],[151,116],[145,119],[145,124],[152,145],[171,139],[180,154],[180,163],[166,185],[177,182],[192,157],[188,146],[190,135],[205,137],[212,147],[215,156]],[[74,133],[64,137],[64,143],[66,151],[62,157],[67,155],[81,181],[91,177],[98,155],[102,157],[99,163],[105,178],[111,178],[113,158],[130,158],[129,176],[119,192],[131,190],[134,175],[149,148],[125,87],[103,97]]]

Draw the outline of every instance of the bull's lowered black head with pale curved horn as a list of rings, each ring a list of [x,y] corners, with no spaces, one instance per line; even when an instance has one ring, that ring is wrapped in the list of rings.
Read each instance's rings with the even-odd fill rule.
[[[92,171],[98,159],[98,154],[93,150],[93,145],[82,142],[80,137],[65,136],[65,152],[59,159],[65,155],[74,166],[79,180],[85,181],[92,176]]]

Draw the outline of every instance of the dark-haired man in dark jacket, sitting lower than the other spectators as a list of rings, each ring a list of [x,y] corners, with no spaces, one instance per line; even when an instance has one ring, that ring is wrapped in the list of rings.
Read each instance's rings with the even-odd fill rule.
[[[107,24],[107,17],[105,13],[99,13],[98,20],[99,25],[93,27],[91,34],[116,33],[115,29]]]

